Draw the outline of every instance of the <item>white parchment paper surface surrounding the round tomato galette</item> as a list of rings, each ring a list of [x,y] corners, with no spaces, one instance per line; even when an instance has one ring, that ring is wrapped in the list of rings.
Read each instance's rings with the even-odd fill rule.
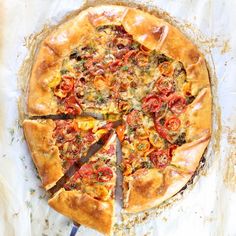
[[[143,1],[168,12],[184,31],[195,37],[216,74],[214,112],[220,108],[222,132],[214,120],[214,135],[207,153],[205,174],[191,191],[155,217],[120,235],[221,236],[236,235],[236,1]],[[72,223],[47,206],[35,167],[18,127],[17,73],[28,51],[25,37],[55,24],[79,0],[0,1],[0,235],[69,235]],[[188,24],[187,24],[188,23]],[[209,53],[210,52],[210,53]],[[217,131],[217,132],[216,132]],[[228,171],[227,171],[228,170]],[[228,178],[225,181],[225,178]],[[152,213],[153,214],[153,213]],[[127,220],[128,221],[128,220]],[[80,227],[78,235],[98,235]]]

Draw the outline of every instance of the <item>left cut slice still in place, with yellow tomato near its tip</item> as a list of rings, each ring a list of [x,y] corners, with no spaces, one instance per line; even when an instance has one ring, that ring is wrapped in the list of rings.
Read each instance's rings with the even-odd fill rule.
[[[107,124],[92,117],[23,122],[26,142],[46,190],[109,132],[111,126]]]

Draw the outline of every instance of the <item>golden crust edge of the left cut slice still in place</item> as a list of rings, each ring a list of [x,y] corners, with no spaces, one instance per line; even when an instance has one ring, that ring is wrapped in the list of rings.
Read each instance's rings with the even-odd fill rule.
[[[25,120],[23,129],[34,164],[46,190],[53,187],[63,176],[59,150],[54,145],[52,120]]]

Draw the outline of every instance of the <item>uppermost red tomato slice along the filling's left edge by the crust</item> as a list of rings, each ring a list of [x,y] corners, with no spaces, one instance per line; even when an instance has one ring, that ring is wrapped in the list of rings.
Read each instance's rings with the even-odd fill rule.
[[[73,90],[74,78],[63,76],[60,84],[55,88],[54,94],[59,98],[65,98]]]

